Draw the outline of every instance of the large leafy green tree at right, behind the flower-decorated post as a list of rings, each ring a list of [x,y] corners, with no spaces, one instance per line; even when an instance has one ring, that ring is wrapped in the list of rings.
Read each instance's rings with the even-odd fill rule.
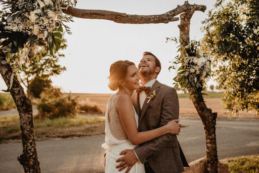
[[[232,113],[259,111],[259,2],[218,0],[203,21],[223,101]]]

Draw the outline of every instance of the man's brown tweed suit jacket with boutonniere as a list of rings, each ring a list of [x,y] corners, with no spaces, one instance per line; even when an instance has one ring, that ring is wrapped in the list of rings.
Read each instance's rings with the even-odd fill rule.
[[[133,105],[139,115],[139,132],[158,128],[172,119],[179,118],[179,101],[176,90],[161,84],[157,80],[152,85],[147,96],[154,90],[156,90],[154,99],[147,103],[149,100],[147,98],[142,110],[140,110],[139,106],[138,93],[134,92],[132,96]],[[163,135],[140,144],[134,151],[139,160],[145,163],[145,166],[150,166],[155,172],[183,172],[183,163],[185,166],[186,164],[188,165],[182,151],[183,161],[181,159],[180,145],[176,135]]]

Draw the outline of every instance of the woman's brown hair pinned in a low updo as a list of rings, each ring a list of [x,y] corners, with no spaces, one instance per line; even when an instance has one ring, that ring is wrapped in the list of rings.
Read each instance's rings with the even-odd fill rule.
[[[109,79],[109,88],[112,91],[116,91],[119,88],[121,88],[121,83],[125,80],[126,75],[127,75],[127,67],[135,65],[131,61],[116,61],[112,63],[110,67],[110,76],[108,77]]]

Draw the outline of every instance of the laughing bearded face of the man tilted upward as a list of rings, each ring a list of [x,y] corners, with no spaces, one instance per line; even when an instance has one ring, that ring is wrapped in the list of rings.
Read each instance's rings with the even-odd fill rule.
[[[145,55],[138,66],[140,73],[144,75],[154,75],[156,73],[155,57],[152,55]]]

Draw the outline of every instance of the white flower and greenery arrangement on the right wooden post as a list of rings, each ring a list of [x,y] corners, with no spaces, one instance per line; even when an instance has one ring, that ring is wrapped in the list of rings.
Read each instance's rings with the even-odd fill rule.
[[[176,41],[176,39],[173,40]],[[194,40],[190,41],[190,44],[182,49],[182,55],[177,56],[177,61],[174,62],[182,65],[174,78],[176,81],[174,83],[175,88],[180,85],[181,88],[187,89],[192,94],[204,94],[206,80],[211,73],[209,57],[201,51],[199,42]],[[169,67],[169,70],[170,68],[174,68],[174,66]]]

